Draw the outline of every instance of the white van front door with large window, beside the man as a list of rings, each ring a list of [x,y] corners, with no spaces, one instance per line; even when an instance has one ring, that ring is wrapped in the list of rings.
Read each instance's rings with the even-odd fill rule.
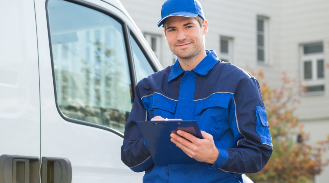
[[[71,164],[72,182],[141,182],[120,158],[137,81],[128,18],[90,2],[36,1],[41,157]]]

